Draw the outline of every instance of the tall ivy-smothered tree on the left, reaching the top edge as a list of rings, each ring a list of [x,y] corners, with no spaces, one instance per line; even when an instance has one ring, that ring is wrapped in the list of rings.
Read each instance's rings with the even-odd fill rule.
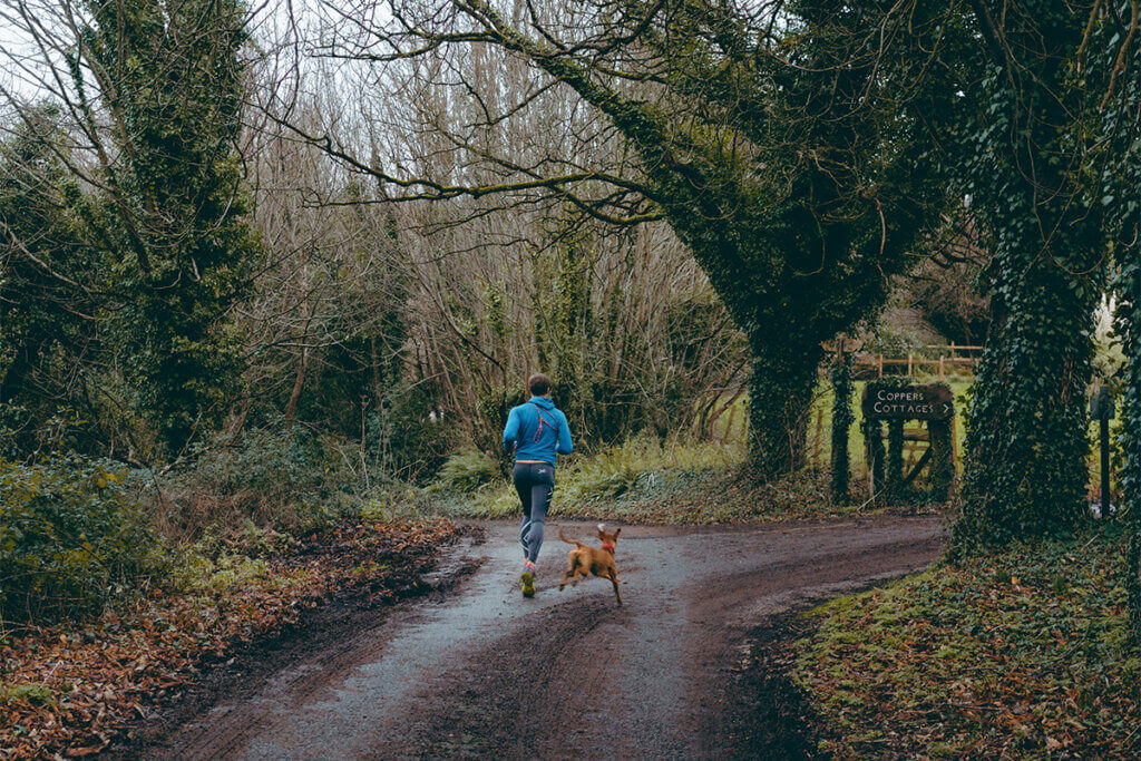
[[[112,121],[106,193],[76,200],[113,299],[103,331],[135,404],[168,456],[216,423],[238,389],[240,345],[225,325],[259,246],[243,216],[235,140],[246,42],[238,0],[88,0],[73,60]],[[81,67],[81,62],[84,67]]]

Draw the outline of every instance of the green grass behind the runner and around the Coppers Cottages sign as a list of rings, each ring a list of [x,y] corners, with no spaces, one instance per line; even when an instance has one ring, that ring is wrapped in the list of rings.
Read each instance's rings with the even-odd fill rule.
[[[931,379],[926,379],[931,380]],[[972,380],[948,381],[955,397],[956,465],[962,473],[966,396]],[[859,395],[866,381],[856,382],[852,404],[857,421],[849,431],[852,491],[860,494],[867,478],[864,438],[859,432]],[[745,459],[747,399],[739,398],[714,424],[714,440],[677,439],[659,444],[653,437],[636,437],[606,451],[560,458],[551,515],[648,523],[727,523],[845,516],[860,505],[837,508],[830,503],[826,476],[832,458],[832,388],[817,387],[807,431],[808,467],[795,477],[766,487],[746,486],[738,478]],[[1115,423],[1116,424],[1116,423]],[[908,428],[919,428],[913,422]],[[1091,436],[1097,426],[1091,427]],[[917,460],[926,444],[906,443],[906,463]],[[479,453],[462,453],[428,492],[378,497],[366,509],[379,515],[415,517],[503,518],[515,516],[518,497],[497,472],[495,463]],[[1091,451],[1091,492],[1100,477],[1097,451]],[[919,486],[923,486],[921,476]]]

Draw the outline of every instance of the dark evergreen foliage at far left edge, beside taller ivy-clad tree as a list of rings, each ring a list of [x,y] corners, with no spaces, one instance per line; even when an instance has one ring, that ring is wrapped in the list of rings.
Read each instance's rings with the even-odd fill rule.
[[[66,213],[59,110],[30,110],[0,144],[0,456],[76,446],[91,420],[84,362],[97,351],[97,272]],[[88,423],[90,424],[90,423]]]

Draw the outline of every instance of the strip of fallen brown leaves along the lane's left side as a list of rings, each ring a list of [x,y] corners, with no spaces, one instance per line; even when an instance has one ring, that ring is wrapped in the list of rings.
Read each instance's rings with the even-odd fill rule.
[[[86,623],[0,639],[0,758],[94,755],[195,671],[273,637],[334,594],[397,599],[458,528],[343,521],[269,557],[188,558],[171,589]]]

